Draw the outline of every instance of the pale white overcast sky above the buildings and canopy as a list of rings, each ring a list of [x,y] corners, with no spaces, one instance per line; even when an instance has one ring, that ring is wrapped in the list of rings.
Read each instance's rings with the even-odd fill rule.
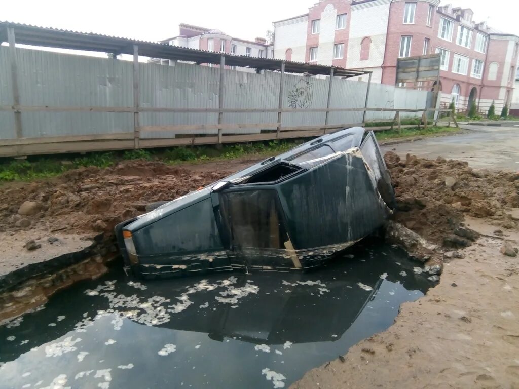
[[[179,23],[219,29],[231,36],[253,39],[265,36],[272,21],[302,15],[317,0],[147,0],[62,1],[19,0],[3,2],[0,20],[45,27],[95,32],[158,41],[178,34]],[[441,4],[448,4],[443,2]],[[474,21],[519,35],[517,0],[456,0],[470,7]]]

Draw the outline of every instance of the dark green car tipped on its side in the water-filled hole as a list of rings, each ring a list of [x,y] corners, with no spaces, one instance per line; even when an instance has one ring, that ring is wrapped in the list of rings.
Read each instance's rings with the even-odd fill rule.
[[[344,129],[116,226],[126,270],[305,270],[384,224],[394,192],[373,132]]]

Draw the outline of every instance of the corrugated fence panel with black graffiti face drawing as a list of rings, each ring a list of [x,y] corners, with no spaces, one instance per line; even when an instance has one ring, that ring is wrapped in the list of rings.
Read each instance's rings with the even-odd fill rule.
[[[328,99],[327,79],[285,74],[283,108],[326,108]],[[284,113],[283,127],[322,126],[324,112]]]

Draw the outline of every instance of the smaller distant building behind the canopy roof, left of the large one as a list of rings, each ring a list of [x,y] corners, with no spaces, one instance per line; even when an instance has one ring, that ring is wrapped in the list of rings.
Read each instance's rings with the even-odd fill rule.
[[[179,35],[161,40],[160,43],[258,58],[272,58],[274,55],[274,47],[268,45],[265,38],[258,37],[254,41],[240,39],[227,35],[220,30],[211,30],[185,23],[179,25]],[[173,65],[174,61],[152,58],[149,62]],[[212,64],[208,65],[213,66]],[[238,68],[238,70],[254,72],[253,69],[249,68]]]

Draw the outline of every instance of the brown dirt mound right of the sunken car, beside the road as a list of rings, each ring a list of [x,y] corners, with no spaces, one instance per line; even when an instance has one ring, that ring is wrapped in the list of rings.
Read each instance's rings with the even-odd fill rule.
[[[470,245],[477,236],[463,226],[465,214],[489,218],[496,229],[517,227],[507,210],[519,207],[518,173],[473,170],[440,157],[384,158],[397,196],[395,219],[423,237],[446,247]]]

